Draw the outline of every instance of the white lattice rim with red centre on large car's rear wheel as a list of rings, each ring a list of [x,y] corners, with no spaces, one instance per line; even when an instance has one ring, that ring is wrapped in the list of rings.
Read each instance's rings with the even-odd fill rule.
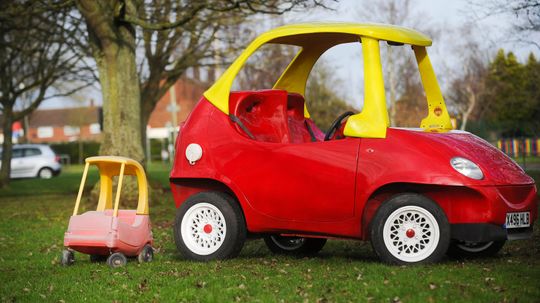
[[[197,203],[182,218],[181,233],[189,250],[198,255],[210,255],[225,241],[225,217],[214,205]]]

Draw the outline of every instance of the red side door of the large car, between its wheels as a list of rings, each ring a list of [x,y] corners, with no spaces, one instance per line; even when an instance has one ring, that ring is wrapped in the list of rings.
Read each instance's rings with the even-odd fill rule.
[[[238,154],[245,166],[234,180],[255,210],[302,222],[354,215],[358,139],[255,144]]]

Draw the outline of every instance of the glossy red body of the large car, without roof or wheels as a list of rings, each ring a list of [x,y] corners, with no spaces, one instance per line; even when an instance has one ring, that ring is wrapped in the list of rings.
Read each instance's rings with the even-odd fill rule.
[[[231,113],[241,116],[238,101],[253,95],[271,100],[250,118],[256,124],[249,125],[252,132],[265,141],[249,138],[205,98],[182,124],[170,175],[177,207],[197,192],[225,191],[240,203],[251,233],[367,239],[380,203],[407,191],[439,204],[454,239],[483,242],[532,233],[532,224],[509,232],[505,220],[509,212],[524,211],[531,222],[537,219],[534,180],[479,137],[389,128],[384,139],[322,141],[323,133],[302,115],[301,96],[279,90],[236,92]],[[281,114],[264,112],[276,109]],[[203,149],[197,165],[190,165],[183,152],[190,143]],[[455,171],[450,165],[455,156],[477,163],[484,178]]]

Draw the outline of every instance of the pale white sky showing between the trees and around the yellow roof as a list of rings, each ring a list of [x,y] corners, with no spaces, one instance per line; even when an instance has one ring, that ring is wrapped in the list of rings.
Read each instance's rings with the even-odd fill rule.
[[[365,6],[369,11],[370,1],[341,0],[337,5],[333,5],[336,10],[318,10],[316,12],[304,13],[295,12],[286,16],[286,23],[306,22],[306,21],[352,21],[368,22],[371,20],[361,20],[356,15],[356,11]],[[433,46],[428,50],[435,72],[444,86],[445,80],[460,67],[460,57],[457,44],[461,35],[461,28],[467,21],[475,19],[474,9],[467,0],[411,0],[411,6],[417,12],[417,16],[428,20],[440,29],[440,34],[435,37]],[[422,22],[423,20],[415,20]],[[481,41],[486,52],[492,56],[499,48],[516,53],[521,61],[524,61],[532,51],[539,54],[538,48],[518,44],[510,41],[511,28],[510,17],[490,17],[476,22],[475,26],[467,27],[468,34],[474,40]],[[269,22],[271,23],[271,22]],[[262,25],[261,27],[264,27]],[[269,28],[261,28],[261,32]],[[361,102],[362,91],[362,68],[358,65],[358,70],[351,62],[359,62],[361,54],[359,49],[353,47],[342,47],[327,55],[332,64],[336,67],[336,77],[343,83],[343,97],[354,105]],[[537,56],[540,57],[540,56]],[[383,62],[384,64],[384,62]],[[101,95],[97,91],[85,93],[86,99],[93,98],[100,103]],[[84,99],[83,97],[83,99]],[[79,98],[80,99],[80,98]],[[41,108],[55,108],[65,106],[80,106],[80,102],[70,102],[66,100],[46,100]]]

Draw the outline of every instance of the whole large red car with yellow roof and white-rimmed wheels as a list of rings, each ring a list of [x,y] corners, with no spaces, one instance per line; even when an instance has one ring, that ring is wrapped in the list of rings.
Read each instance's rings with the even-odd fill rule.
[[[363,109],[323,133],[306,107],[306,80],[326,50],[354,42]],[[383,42],[412,46],[427,96],[418,129],[389,127]],[[299,51],[272,88],[231,91],[267,43]],[[484,140],[452,130],[429,45],[411,29],[351,23],[288,25],[255,39],[181,125],[170,175],[178,249],[195,260],[234,257],[249,233],[274,252],[314,253],[339,237],[370,240],[383,261],[410,264],[491,255],[531,236],[534,181]]]

